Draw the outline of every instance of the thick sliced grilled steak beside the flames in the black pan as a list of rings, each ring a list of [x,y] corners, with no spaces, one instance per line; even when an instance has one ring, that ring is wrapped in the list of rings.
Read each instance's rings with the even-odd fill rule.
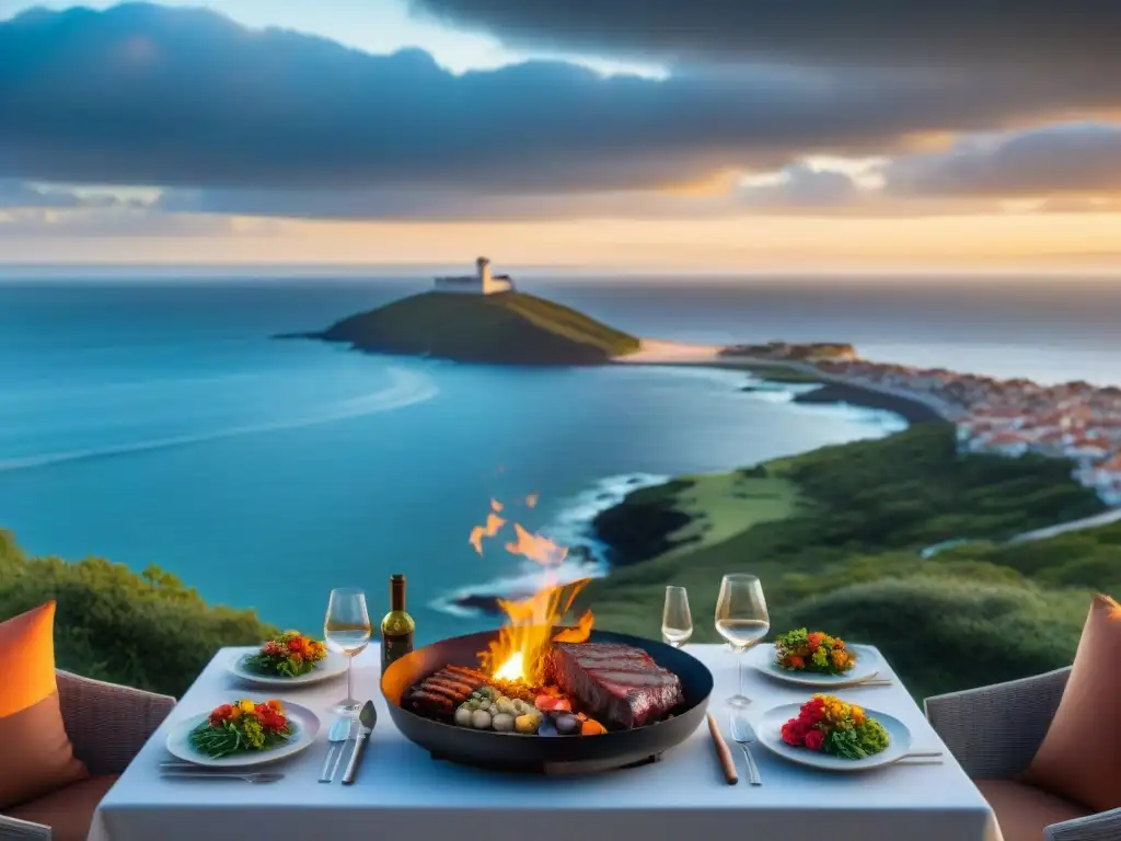
[[[549,675],[601,723],[649,724],[685,701],[682,682],[640,648],[615,643],[556,643]]]

